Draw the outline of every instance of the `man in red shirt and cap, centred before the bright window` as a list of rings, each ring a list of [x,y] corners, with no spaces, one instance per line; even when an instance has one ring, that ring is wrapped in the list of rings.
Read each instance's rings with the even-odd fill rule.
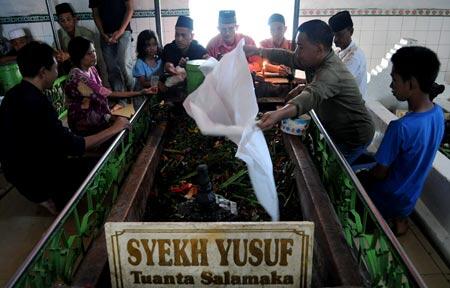
[[[239,41],[242,38],[245,39],[246,45],[252,45],[256,47],[255,41],[249,36],[236,33],[238,25],[236,25],[236,13],[234,10],[222,10],[219,11],[219,31],[220,34],[212,38],[206,49],[211,57],[220,60],[222,56],[234,48],[236,48]],[[261,58],[258,56],[250,56],[247,58],[249,62],[250,71],[260,71],[261,70]]]

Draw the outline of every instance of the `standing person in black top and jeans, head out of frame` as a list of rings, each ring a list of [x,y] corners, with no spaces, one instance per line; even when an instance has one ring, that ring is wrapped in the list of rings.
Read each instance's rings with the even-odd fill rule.
[[[133,0],[89,0],[113,91],[132,90],[131,27]]]

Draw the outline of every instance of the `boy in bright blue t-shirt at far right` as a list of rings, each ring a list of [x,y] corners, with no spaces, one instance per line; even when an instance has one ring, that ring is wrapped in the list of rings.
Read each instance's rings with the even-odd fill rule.
[[[392,93],[408,101],[409,112],[389,123],[367,191],[394,233],[402,235],[442,141],[444,114],[432,102],[442,92],[434,83],[440,66],[436,54],[425,47],[403,47],[391,61]]]

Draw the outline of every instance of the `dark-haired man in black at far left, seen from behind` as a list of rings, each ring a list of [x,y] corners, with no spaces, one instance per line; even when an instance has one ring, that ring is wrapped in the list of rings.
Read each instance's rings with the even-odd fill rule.
[[[0,161],[7,175],[11,174],[10,169],[37,175],[42,172],[39,168],[43,163],[52,167],[61,164],[68,154],[84,152],[83,139],[62,126],[52,103],[42,93],[58,75],[53,49],[38,42],[25,47],[18,57],[24,79],[6,93],[0,106]],[[46,75],[41,75],[44,72],[40,72],[42,68],[38,70],[39,65],[46,65]],[[38,83],[34,79],[45,80]]]

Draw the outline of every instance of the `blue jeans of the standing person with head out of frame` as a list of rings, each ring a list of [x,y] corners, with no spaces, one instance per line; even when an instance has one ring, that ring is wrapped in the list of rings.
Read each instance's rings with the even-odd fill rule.
[[[113,91],[132,90],[134,79],[131,76],[131,32],[125,31],[115,44],[100,39],[103,59],[108,69],[108,79]]]

